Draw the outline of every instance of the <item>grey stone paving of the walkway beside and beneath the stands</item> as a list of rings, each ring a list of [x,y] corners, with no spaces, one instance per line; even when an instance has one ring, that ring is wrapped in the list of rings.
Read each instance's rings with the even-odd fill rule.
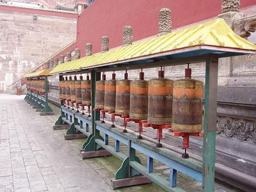
[[[113,191],[110,180],[122,162],[114,156],[82,160],[79,149],[85,140],[64,140],[65,130],[52,129],[59,108],[52,106],[53,116],[39,116],[23,98],[0,94],[0,192]],[[166,166],[155,165],[156,172],[168,177]],[[201,187],[184,175],[177,184],[187,191]],[[151,183],[115,191],[164,190]],[[216,183],[216,191],[236,189]]]

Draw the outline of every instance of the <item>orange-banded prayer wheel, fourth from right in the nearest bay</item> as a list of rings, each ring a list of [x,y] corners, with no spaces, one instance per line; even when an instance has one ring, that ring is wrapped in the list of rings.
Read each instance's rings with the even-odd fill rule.
[[[128,74],[125,73],[124,80],[118,80],[115,97],[115,113],[118,115],[129,115],[130,113],[130,84],[127,80]]]

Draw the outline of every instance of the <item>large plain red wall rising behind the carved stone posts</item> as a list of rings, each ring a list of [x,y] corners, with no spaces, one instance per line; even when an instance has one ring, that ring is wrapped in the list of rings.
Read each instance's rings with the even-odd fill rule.
[[[241,7],[256,0],[241,0]],[[110,48],[122,44],[122,28],[133,27],[134,41],[158,33],[158,12],[172,10],[172,27],[199,22],[221,13],[221,0],[96,0],[78,18],[77,48],[85,55],[85,44],[93,44],[93,53],[101,49],[101,36],[109,36]]]

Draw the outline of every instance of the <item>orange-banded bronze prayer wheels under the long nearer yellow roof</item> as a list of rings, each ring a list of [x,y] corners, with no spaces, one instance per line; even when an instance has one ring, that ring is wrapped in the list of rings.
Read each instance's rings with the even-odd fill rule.
[[[191,78],[191,69],[185,69],[185,78],[172,81],[164,78],[160,70],[158,78],[146,81],[144,73],[139,80],[128,80],[127,72],[123,80],[96,81],[96,108],[109,114],[129,116],[132,120],[146,120],[151,127],[171,125],[171,130],[196,133],[202,130],[203,82]],[[89,76],[85,81],[60,81],[60,98],[81,105],[91,105]]]

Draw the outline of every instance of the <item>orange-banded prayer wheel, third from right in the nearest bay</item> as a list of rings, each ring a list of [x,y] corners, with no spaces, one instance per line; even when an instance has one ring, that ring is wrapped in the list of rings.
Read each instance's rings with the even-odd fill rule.
[[[140,80],[131,81],[130,119],[147,119],[148,81],[143,79],[144,73],[141,72]]]

